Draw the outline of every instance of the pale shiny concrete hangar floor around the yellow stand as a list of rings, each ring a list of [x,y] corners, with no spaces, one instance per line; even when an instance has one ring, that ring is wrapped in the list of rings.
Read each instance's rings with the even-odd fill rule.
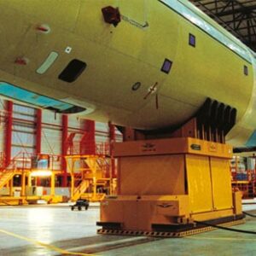
[[[256,205],[244,207],[256,214]],[[98,218],[98,207],[1,207],[0,255],[256,255],[255,235],[214,230],[180,239],[99,236]],[[256,231],[256,218],[235,228]]]

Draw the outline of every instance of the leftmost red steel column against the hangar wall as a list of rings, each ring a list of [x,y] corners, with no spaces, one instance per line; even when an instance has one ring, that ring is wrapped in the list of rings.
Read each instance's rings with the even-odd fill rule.
[[[7,101],[6,110],[7,110],[7,117],[6,117],[6,129],[5,129],[5,166],[9,165],[11,160],[11,149],[12,149],[12,126],[13,126],[13,108],[14,103]]]

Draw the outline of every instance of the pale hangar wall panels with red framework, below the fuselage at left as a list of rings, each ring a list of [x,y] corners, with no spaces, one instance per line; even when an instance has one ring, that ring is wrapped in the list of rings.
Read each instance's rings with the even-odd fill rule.
[[[12,111],[9,111],[11,106]],[[18,102],[0,99],[0,154],[10,153],[10,159],[29,154],[62,155],[63,115],[49,110],[41,110]],[[11,126],[9,126],[11,122]],[[91,121],[93,122],[93,121]],[[67,137],[74,133],[73,145],[77,147],[85,132],[86,119],[76,115],[67,116]],[[96,143],[109,142],[109,125],[95,122],[94,137]],[[11,137],[8,143],[8,137]],[[122,135],[115,129],[115,140],[122,141]],[[67,138],[66,138],[67,141]],[[68,146],[67,146],[68,147]],[[76,149],[74,149],[76,150]],[[71,151],[68,151],[70,154]],[[78,151],[74,151],[77,154]],[[61,160],[55,161],[55,170],[61,170]]]

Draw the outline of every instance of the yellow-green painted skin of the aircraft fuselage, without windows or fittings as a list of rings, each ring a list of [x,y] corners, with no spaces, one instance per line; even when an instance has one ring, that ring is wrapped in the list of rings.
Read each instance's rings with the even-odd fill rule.
[[[117,27],[103,20],[102,8],[108,5],[125,16]],[[160,1],[0,0],[0,9],[0,81],[92,109],[84,118],[139,129],[181,124],[207,97],[237,108],[230,143],[246,143],[256,127],[252,64]],[[41,24],[50,32],[38,32]],[[196,37],[195,48],[189,46],[189,33]],[[72,47],[70,54],[65,53],[67,46]],[[39,75],[36,70],[51,51],[59,57]],[[15,64],[19,56],[29,63]],[[166,58],[173,61],[169,74],[160,71]],[[87,67],[69,84],[58,76],[73,59]],[[131,90],[136,82],[142,86]],[[155,92],[144,99],[155,83],[158,109]]]

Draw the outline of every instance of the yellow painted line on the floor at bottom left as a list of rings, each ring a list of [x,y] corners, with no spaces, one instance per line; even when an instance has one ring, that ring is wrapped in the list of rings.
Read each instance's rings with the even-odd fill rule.
[[[61,253],[61,254],[66,254],[66,255],[81,255],[81,256],[96,256],[95,254],[88,254],[88,253],[71,253],[71,252],[68,252],[66,250],[63,250],[59,247],[55,247],[53,245],[50,245],[50,244],[47,244],[47,243],[44,243],[42,241],[37,241],[35,239],[32,239],[32,238],[29,238],[29,237],[26,237],[26,236],[20,236],[20,235],[17,235],[15,233],[12,233],[12,232],[9,232],[7,230],[0,230],[1,233],[3,234],[6,234],[6,235],[9,235],[9,236],[14,236],[16,238],[19,238],[20,240],[25,240],[25,241],[29,241],[29,242],[32,242],[34,244],[37,244],[41,247],[46,247],[52,251],[55,251],[55,252],[58,252],[58,253]]]

